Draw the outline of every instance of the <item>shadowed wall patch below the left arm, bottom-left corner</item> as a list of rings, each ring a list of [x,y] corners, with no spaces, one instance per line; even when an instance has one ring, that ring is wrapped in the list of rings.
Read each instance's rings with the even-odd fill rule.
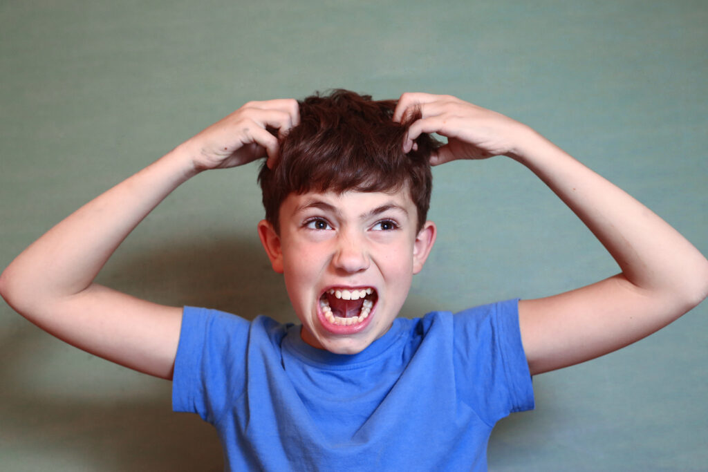
[[[52,355],[73,365],[51,372]],[[126,392],[122,367],[110,372],[111,365],[53,342],[29,323],[3,340],[0,357],[2,470],[223,469],[215,430],[198,415],[171,413],[169,381],[125,371],[132,384]],[[105,384],[93,383],[102,377]],[[130,391],[136,384],[139,393]]]

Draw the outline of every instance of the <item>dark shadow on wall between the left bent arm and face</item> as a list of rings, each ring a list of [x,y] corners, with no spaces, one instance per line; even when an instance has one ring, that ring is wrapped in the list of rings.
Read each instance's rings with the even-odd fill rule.
[[[161,304],[297,321],[282,275],[273,272],[255,238],[217,233],[188,240],[170,234],[125,257],[116,253],[98,283]]]

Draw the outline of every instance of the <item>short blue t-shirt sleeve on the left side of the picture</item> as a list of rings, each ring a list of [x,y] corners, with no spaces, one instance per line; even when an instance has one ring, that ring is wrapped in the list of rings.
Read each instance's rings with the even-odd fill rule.
[[[185,306],[172,379],[174,411],[214,423],[244,388],[249,326],[244,318]]]

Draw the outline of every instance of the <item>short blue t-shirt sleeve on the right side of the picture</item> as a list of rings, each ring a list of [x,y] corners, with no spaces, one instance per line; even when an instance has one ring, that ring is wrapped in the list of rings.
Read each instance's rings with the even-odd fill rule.
[[[462,400],[490,426],[509,413],[532,410],[518,299],[456,313],[453,323],[455,381]]]

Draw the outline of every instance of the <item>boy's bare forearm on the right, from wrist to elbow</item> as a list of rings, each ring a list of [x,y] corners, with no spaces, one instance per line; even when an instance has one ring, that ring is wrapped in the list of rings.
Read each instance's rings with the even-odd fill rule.
[[[634,287],[690,306],[706,297],[708,261],[651,210],[531,130],[511,156],[573,210]]]

